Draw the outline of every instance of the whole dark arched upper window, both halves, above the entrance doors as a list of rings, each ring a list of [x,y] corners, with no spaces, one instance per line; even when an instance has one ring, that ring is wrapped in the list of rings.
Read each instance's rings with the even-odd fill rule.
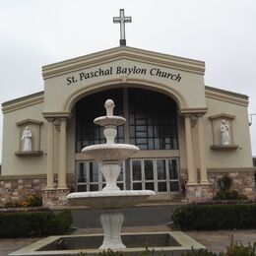
[[[176,103],[169,96],[141,89],[128,89],[128,102],[124,102],[123,89],[114,89],[87,96],[76,104],[76,152],[84,147],[105,143],[103,127],[94,119],[105,115],[103,102],[112,98],[114,114],[128,116],[126,136],[130,144],[141,150],[177,150],[178,132]],[[125,108],[125,109],[124,109]],[[125,110],[125,111],[124,111]],[[124,143],[124,126],[117,127],[116,143]]]

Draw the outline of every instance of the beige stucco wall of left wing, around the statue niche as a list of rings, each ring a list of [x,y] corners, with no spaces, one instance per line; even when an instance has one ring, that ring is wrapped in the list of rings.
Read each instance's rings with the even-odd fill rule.
[[[46,173],[46,120],[42,117],[43,104],[37,103],[25,106],[14,111],[4,113],[3,126],[3,158],[2,175],[33,175]],[[19,151],[21,130],[17,122],[34,119],[43,122],[41,125],[40,150],[38,157],[17,157]]]

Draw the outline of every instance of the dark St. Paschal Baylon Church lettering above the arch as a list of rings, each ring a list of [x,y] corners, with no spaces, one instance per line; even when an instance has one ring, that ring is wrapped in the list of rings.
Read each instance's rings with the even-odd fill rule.
[[[80,72],[74,76],[67,77],[67,86],[70,86],[72,84],[76,84],[77,82],[81,82],[84,80],[89,80],[93,78],[98,77],[107,77],[112,75],[123,75],[123,76],[129,76],[129,75],[150,75],[152,77],[160,77],[169,79],[175,82],[180,82],[181,76],[179,73],[169,73],[162,71],[160,68],[140,68],[137,66],[132,67],[109,67],[109,68],[97,68],[96,70],[93,70],[91,72]]]

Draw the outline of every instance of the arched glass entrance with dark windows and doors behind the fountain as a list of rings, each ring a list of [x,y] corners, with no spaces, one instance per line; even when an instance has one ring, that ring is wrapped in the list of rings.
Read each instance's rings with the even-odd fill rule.
[[[114,114],[124,116],[116,143],[138,146],[141,152],[120,162],[121,189],[151,189],[159,194],[178,193],[179,140],[177,103],[169,96],[138,88],[116,88],[86,96],[75,104],[76,180],[78,191],[101,190],[104,186],[97,162],[83,159],[81,150],[105,143],[102,128],[94,119],[105,115],[103,102],[115,101]]]

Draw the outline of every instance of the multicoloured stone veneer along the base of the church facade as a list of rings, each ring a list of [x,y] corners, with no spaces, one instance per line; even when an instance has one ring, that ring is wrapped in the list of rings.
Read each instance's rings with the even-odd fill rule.
[[[210,186],[186,186],[186,198],[188,202],[202,202],[211,201],[213,196],[218,191],[218,179],[223,177],[224,174],[229,174],[233,180],[232,188],[239,193],[246,194],[249,199],[256,199],[255,191],[255,179],[254,171],[228,171],[228,172],[216,172],[209,171],[208,178],[211,182]],[[187,174],[181,174],[181,181],[186,182]],[[57,175],[54,177],[55,187],[57,187]],[[74,191],[76,188],[75,173],[68,173],[67,175],[68,192]],[[28,176],[0,176],[0,206],[3,206],[6,202],[14,202],[23,200],[30,194],[42,195],[43,188],[46,186],[46,175],[28,175]],[[50,205],[50,201],[54,201],[54,205],[65,205],[64,197],[68,193],[67,191],[53,190],[52,193],[47,193],[46,198],[47,205]],[[57,202],[62,200],[63,202]],[[45,201],[45,202],[46,202]]]

